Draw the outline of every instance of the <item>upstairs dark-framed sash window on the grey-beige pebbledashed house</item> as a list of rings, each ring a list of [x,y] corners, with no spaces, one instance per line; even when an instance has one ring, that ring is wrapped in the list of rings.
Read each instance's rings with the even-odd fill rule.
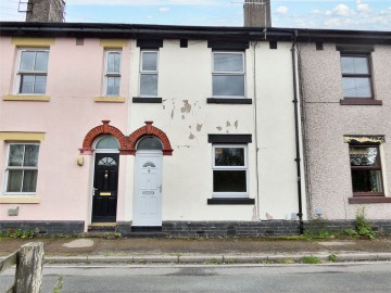
[[[369,55],[342,54],[342,82],[345,99],[373,99]]]

